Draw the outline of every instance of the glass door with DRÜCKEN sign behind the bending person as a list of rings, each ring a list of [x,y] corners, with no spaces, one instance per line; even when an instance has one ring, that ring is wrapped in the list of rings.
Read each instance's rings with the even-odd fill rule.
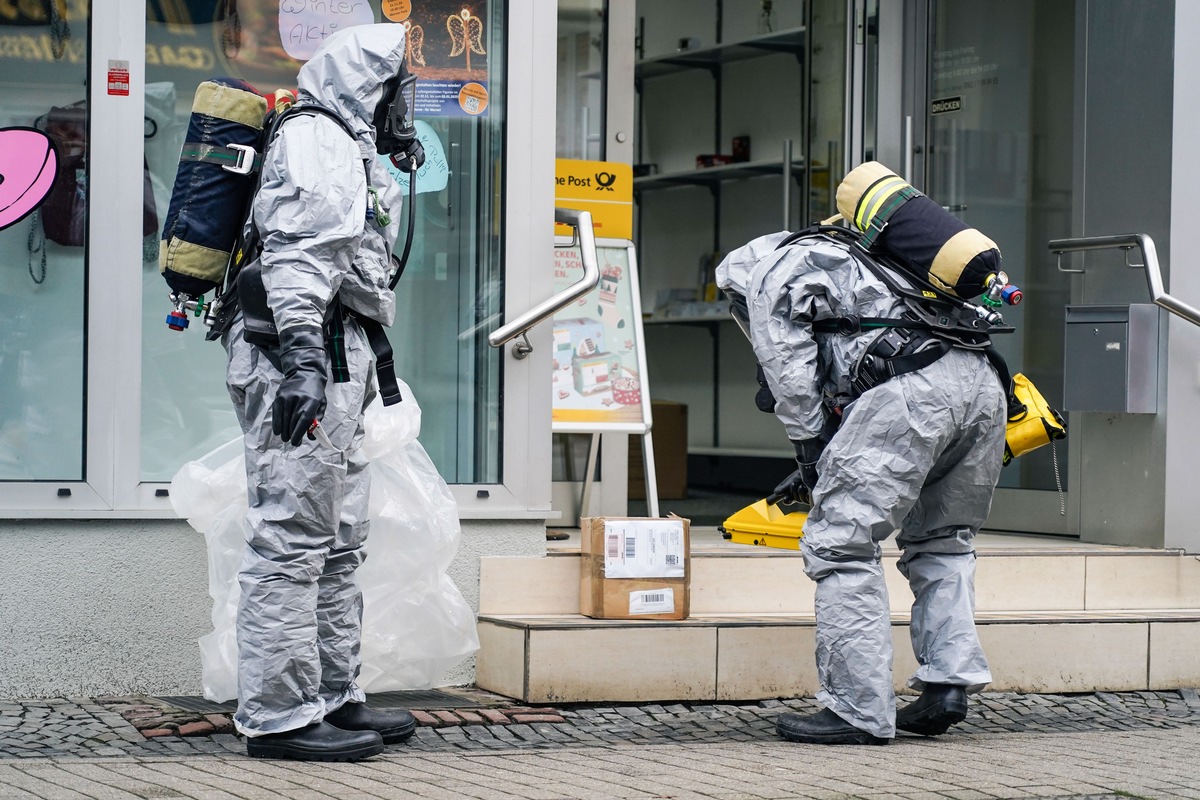
[[[1069,2],[930,0],[910,139],[918,187],[1000,246],[1025,300],[994,341],[1060,408],[1070,284],[1046,241],[1070,231],[1074,17]],[[1067,461],[1058,444],[1007,467],[989,528],[1069,533]]]

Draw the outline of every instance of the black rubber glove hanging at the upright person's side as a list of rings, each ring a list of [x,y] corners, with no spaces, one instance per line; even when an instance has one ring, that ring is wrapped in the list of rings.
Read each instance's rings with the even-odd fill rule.
[[[280,331],[280,366],[283,383],[271,405],[271,431],[295,446],[325,411],[329,354],[322,330],[301,326]]]

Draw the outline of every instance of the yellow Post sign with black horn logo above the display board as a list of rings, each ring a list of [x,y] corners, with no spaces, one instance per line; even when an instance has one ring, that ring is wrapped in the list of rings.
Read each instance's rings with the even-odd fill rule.
[[[554,205],[592,213],[598,239],[634,237],[634,168],[608,161],[559,158],[554,166]],[[570,236],[556,224],[554,235]]]

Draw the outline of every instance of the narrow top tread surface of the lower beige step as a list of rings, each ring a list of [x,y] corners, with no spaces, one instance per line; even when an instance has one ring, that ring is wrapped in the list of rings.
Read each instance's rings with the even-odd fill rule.
[[[582,614],[480,614],[480,622],[502,627],[571,630],[658,627],[791,627],[816,625],[812,614],[706,614],[683,620],[595,619]],[[1136,610],[1013,610],[978,612],[976,625],[1060,625],[1088,622],[1196,622],[1200,608]],[[892,614],[893,625],[907,625],[908,614]]]

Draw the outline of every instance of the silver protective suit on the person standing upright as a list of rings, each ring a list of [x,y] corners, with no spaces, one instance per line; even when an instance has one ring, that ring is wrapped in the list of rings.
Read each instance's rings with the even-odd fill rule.
[[[323,115],[299,115],[266,151],[253,224],[281,331],[320,327],[335,295],[358,314],[392,321],[388,282],[402,192],[376,156],[371,120],[403,58],[403,25],[362,25],[330,36],[300,68],[299,102],[335,112],[355,137]],[[368,180],[391,217],[385,228],[367,219]],[[223,339],[250,492],[234,717],[247,736],[300,728],[365,699],[355,684],[362,599],[354,572],[366,557],[370,479],[360,445],[376,387],[362,329],[353,317],[344,326],[349,380],[326,384],[320,420],[332,447],[319,439],[293,447],[274,435],[282,374],[242,339],[240,317]]]

